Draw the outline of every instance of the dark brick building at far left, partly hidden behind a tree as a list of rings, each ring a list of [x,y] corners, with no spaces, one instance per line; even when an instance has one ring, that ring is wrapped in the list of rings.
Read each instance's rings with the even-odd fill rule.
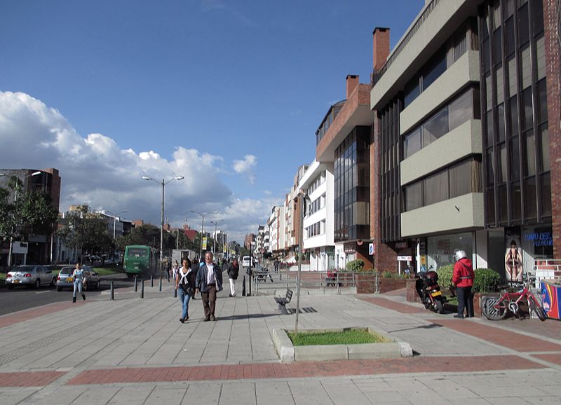
[[[50,197],[50,203],[55,210],[59,210],[60,204],[60,176],[54,168],[34,169],[2,169],[0,170],[0,187],[6,184],[12,177],[18,177],[22,181],[22,191],[41,191]],[[15,194],[10,196],[11,201]],[[12,264],[32,263],[48,264],[53,262],[54,234],[50,235],[28,235],[25,241],[13,242]],[[0,247],[0,263],[8,263],[9,246]]]

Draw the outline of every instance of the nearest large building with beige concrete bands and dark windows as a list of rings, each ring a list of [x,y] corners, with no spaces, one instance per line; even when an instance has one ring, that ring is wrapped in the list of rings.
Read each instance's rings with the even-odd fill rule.
[[[511,245],[525,270],[561,252],[556,7],[427,0],[387,57],[389,30],[374,31],[377,268],[396,268],[397,256],[438,268],[464,249],[505,274]]]

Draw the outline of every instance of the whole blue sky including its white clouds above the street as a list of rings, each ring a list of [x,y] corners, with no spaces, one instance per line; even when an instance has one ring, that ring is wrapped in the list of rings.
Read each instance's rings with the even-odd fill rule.
[[[398,41],[403,1],[0,2],[1,167],[57,167],[61,210],[88,203],[239,239],[315,154],[315,130],[370,81],[372,31]]]

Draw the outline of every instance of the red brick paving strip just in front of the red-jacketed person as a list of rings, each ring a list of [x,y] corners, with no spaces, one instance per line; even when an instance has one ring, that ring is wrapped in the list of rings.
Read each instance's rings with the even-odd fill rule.
[[[543,341],[523,334],[517,334],[505,329],[489,327],[489,325],[468,320],[431,320],[434,324],[454,329],[462,334],[468,334],[485,341],[517,350],[518,352],[557,352],[561,351],[561,344]]]

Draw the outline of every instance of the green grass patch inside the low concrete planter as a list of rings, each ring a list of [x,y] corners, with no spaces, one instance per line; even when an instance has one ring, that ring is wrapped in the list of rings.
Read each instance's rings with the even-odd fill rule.
[[[388,343],[384,336],[370,334],[365,329],[347,329],[337,332],[299,332],[295,337],[293,332],[288,332],[288,337],[295,346],[312,345],[356,345],[360,343]]]

